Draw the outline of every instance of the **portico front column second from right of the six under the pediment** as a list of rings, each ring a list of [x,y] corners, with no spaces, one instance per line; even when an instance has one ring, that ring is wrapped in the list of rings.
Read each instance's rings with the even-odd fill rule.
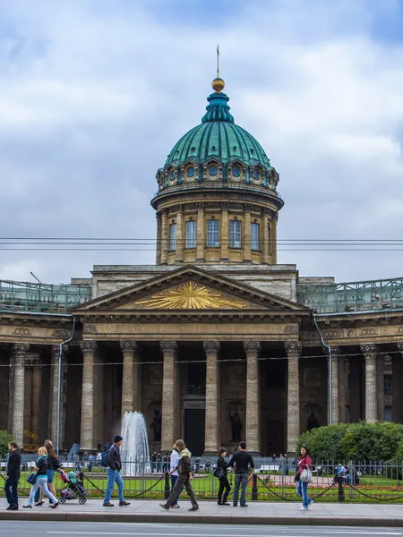
[[[259,362],[261,350],[259,341],[245,341],[246,354],[246,446],[248,451],[261,453]]]

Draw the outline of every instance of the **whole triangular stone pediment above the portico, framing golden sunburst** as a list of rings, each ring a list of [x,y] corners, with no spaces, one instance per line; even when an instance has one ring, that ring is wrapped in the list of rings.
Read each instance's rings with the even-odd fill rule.
[[[279,311],[306,315],[304,306],[228,277],[192,266],[172,270],[146,282],[82,304],[77,314],[107,311]]]

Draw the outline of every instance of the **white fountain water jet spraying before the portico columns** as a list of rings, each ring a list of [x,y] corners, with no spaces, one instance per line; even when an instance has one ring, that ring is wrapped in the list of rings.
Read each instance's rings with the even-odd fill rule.
[[[147,424],[140,412],[124,413],[122,424],[122,475],[150,473],[150,449]]]

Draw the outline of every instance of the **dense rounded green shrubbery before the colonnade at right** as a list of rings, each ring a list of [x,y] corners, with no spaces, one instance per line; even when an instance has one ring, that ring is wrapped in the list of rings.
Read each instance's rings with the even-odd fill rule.
[[[298,450],[305,444],[315,461],[367,462],[396,457],[403,460],[402,442],[400,423],[342,423],[305,432],[298,440]]]

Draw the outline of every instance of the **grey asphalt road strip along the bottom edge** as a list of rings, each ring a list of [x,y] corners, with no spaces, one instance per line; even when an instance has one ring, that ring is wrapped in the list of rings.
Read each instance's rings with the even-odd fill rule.
[[[101,524],[76,522],[24,522],[3,520],[0,537],[402,537],[403,528],[320,526],[256,526],[202,524]]]

